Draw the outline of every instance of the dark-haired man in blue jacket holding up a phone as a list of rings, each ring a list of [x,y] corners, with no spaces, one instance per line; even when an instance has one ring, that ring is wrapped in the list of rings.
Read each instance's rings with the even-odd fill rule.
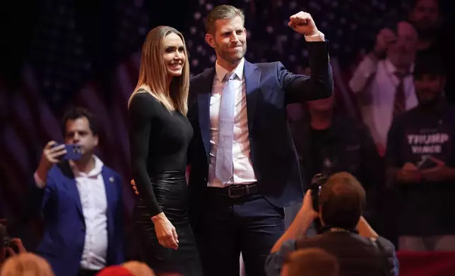
[[[92,276],[124,261],[122,177],[93,154],[98,130],[88,111],[67,111],[63,130],[81,156],[66,160],[65,145],[45,146],[32,185],[45,228],[36,251],[56,276]]]

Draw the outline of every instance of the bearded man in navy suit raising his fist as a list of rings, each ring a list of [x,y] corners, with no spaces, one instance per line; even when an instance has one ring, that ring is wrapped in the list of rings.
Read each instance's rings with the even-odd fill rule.
[[[191,223],[208,276],[239,275],[240,252],[247,275],[265,275],[266,256],[284,232],[283,207],[302,201],[286,106],[330,96],[333,79],[311,15],[291,16],[289,26],[305,35],[311,76],[246,61],[241,10],[216,6],[206,18],[217,61],[192,78],[188,118]]]

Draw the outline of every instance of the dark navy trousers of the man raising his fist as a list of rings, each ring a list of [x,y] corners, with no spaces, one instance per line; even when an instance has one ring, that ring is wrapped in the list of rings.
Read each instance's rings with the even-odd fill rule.
[[[232,199],[208,188],[204,208],[203,270],[206,276],[237,276],[240,252],[247,275],[266,275],[268,253],[284,232],[284,210],[260,194]]]

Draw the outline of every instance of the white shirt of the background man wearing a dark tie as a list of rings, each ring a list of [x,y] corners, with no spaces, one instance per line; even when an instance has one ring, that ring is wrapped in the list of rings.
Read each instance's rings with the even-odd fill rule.
[[[413,67],[410,68],[411,71]],[[350,89],[356,94],[362,120],[370,129],[374,142],[386,146],[387,133],[394,119],[394,101],[399,79],[396,68],[388,60],[375,63],[366,56],[349,81]],[[405,108],[409,110],[418,104],[415,96],[413,76],[403,79]]]

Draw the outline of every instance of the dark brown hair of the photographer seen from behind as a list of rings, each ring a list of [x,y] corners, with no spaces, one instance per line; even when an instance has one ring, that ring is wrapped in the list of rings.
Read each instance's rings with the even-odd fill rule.
[[[365,203],[365,189],[349,172],[338,172],[321,186],[319,206],[327,227],[354,230]]]

